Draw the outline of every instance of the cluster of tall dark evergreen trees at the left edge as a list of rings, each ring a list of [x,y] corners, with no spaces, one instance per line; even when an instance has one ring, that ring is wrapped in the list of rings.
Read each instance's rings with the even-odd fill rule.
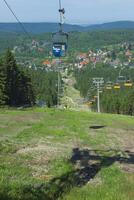
[[[16,64],[7,50],[0,58],[0,106],[34,105],[35,95],[30,75]]]

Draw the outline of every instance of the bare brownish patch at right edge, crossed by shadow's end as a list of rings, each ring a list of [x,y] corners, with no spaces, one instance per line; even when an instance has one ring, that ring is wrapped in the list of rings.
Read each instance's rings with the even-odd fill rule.
[[[109,144],[113,149],[117,149],[117,154],[121,158],[119,162],[121,170],[134,173],[134,131],[114,128],[109,130],[110,134],[107,134]]]

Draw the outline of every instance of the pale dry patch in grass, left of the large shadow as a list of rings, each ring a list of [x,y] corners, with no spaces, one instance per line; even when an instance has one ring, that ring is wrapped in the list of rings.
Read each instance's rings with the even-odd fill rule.
[[[68,158],[71,149],[70,144],[47,142],[33,146],[24,146],[16,154],[30,156],[31,158],[27,159],[25,164],[31,168],[34,177],[42,177],[47,175],[50,163],[53,160],[62,159],[63,157]]]

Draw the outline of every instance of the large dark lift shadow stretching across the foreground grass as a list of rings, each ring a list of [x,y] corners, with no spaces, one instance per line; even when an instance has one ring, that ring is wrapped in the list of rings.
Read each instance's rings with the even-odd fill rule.
[[[114,162],[134,164],[134,153],[126,151],[121,156],[117,151],[109,150],[115,156],[103,156],[108,151],[92,151],[88,149],[75,148],[69,160],[74,165],[74,170],[63,174],[61,177],[53,178],[47,184],[25,186],[19,194],[20,200],[58,200],[67,194],[73,187],[82,187],[93,179],[103,168],[109,167]],[[126,156],[127,155],[127,156]],[[17,193],[17,192],[16,192]],[[6,194],[6,193],[5,193]],[[2,196],[0,196],[2,197]],[[1,200],[17,200],[5,196]]]

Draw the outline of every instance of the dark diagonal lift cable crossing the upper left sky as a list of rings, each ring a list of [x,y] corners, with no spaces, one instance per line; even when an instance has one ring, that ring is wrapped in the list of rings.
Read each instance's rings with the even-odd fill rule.
[[[31,35],[27,32],[27,30],[25,29],[23,23],[19,20],[19,18],[17,17],[17,15],[15,14],[15,12],[12,10],[11,6],[8,4],[8,2],[6,0],[3,0],[4,3],[6,4],[7,8],[10,10],[10,12],[12,13],[12,15],[15,17],[15,19],[17,20],[17,22],[19,23],[19,25],[21,26],[21,28],[23,29],[24,33],[28,36],[28,38],[30,40],[33,40]]]

